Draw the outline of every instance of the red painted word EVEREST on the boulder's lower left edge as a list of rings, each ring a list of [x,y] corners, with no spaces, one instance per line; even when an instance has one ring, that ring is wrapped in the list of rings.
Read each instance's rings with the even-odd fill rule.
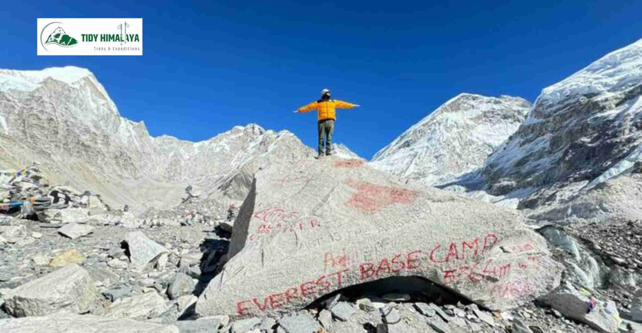
[[[301,298],[323,295],[331,287],[337,289],[342,286],[343,274],[347,272],[347,269],[340,271],[335,271],[334,273],[322,275],[312,280],[297,284],[295,286],[289,287],[286,290],[280,293],[274,293],[270,295],[265,295],[263,298],[246,298],[236,302],[236,313],[239,316],[248,316],[252,310],[258,310],[260,312],[266,311],[268,307],[272,310],[278,309],[287,303],[290,303],[292,300],[299,300]]]

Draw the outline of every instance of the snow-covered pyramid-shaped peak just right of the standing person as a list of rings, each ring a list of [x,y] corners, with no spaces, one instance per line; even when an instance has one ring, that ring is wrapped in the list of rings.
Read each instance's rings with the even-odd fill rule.
[[[460,94],[377,152],[370,164],[424,184],[442,184],[482,166],[529,108],[523,98]]]

